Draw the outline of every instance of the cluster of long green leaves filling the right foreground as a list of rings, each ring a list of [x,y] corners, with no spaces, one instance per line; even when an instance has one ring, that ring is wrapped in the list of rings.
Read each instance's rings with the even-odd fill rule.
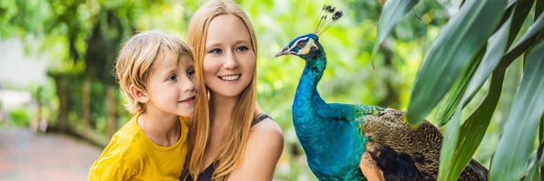
[[[481,144],[484,134],[492,132],[494,126],[488,127],[494,113],[504,110],[496,108],[502,100],[503,81],[514,78],[506,73],[507,68],[515,69],[515,63],[511,62],[525,53],[523,77],[518,79],[520,86],[511,109],[506,112],[508,119],[500,130],[500,141],[491,161],[490,179],[518,180],[522,176],[530,180],[540,179],[539,157],[535,154],[529,160],[529,155],[535,151],[533,145],[539,119],[544,112],[544,106],[540,105],[544,102],[544,90],[540,90],[544,89],[541,76],[544,74],[542,1],[536,1],[536,4],[534,0],[463,3],[460,12],[442,28],[417,72],[407,112],[408,121],[418,125],[442,100],[438,122],[440,126],[449,125],[442,143],[439,179],[457,179]],[[533,5],[536,6],[534,23],[526,21]],[[483,13],[485,11],[490,13]],[[500,24],[500,28],[496,28],[496,24]],[[522,33],[527,24],[529,29]],[[519,40],[510,47],[518,36]],[[510,47],[507,52],[506,47]],[[478,97],[475,95],[491,72],[487,95],[483,100],[473,99]],[[444,98],[447,92],[449,94]],[[508,94],[502,95],[508,97]],[[470,105],[471,100],[481,103],[466,120],[461,121],[461,110]],[[541,149],[539,147],[538,155]]]

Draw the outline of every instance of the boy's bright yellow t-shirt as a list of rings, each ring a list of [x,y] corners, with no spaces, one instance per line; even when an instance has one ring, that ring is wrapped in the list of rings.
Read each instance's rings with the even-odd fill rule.
[[[138,116],[113,135],[92,164],[89,180],[180,180],[188,149],[189,119],[180,117],[180,140],[167,148],[143,133]]]

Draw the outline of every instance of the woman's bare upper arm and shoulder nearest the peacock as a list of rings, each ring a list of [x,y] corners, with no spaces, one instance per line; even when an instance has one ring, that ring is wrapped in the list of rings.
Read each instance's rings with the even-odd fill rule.
[[[283,133],[277,123],[264,119],[249,131],[242,165],[228,180],[272,180],[283,147]]]

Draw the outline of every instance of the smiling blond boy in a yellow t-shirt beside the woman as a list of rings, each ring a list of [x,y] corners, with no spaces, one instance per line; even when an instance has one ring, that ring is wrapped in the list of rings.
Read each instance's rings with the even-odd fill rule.
[[[136,115],[92,164],[89,180],[179,180],[198,81],[189,46],[156,31],[124,43],[115,65]],[[180,117],[183,116],[183,117]]]

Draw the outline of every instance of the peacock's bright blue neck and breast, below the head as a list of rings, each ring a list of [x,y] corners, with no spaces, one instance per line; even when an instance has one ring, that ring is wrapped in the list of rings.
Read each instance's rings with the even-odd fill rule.
[[[358,157],[366,139],[354,125],[355,107],[348,104],[327,104],[317,92],[326,67],[323,47],[303,57],[306,66],[293,101],[293,125],[305,150],[308,166],[320,180],[363,179]],[[346,149],[347,148],[347,149]],[[355,157],[355,158],[354,158]],[[331,167],[336,166],[336,167]]]

